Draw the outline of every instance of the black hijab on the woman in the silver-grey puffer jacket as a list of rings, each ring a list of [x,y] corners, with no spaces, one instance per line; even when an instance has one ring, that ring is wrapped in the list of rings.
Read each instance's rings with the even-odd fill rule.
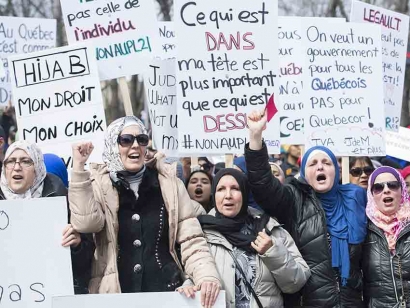
[[[226,175],[231,175],[239,185],[242,192],[242,207],[238,215],[233,218],[222,215],[216,206],[215,193],[219,181]],[[248,214],[248,195],[249,185],[245,174],[236,169],[226,168],[220,170],[214,177],[212,182],[212,201],[215,206],[215,216],[201,215],[198,217],[199,223],[204,230],[215,230],[220,232],[229,243],[234,247],[241,248],[245,251],[256,253],[252,248],[251,242],[255,241],[258,232],[265,228],[269,221],[269,216],[263,214],[260,218],[253,218]],[[244,234],[241,230],[250,225],[251,234]]]

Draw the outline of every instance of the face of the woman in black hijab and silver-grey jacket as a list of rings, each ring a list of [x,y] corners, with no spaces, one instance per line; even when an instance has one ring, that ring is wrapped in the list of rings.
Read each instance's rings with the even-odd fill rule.
[[[238,182],[231,175],[225,175],[216,186],[215,203],[218,212],[233,218],[242,208],[242,191]]]

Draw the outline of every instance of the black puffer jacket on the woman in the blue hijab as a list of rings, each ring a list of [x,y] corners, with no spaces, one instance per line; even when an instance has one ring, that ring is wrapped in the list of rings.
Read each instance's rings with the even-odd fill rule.
[[[342,287],[331,265],[326,216],[313,189],[291,179],[282,185],[272,176],[266,145],[259,151],[245,148],[248,179],[255,201],[275,216],[290,233],[311,270],[305,287],[286,295],[286,307],[363,307],[360,269],[361,245],[349,245],[350,278]]]

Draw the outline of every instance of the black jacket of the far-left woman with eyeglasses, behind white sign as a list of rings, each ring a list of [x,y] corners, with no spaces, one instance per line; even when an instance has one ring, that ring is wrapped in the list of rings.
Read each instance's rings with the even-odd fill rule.
[[[59,177],[47,173],[44,179],[42,198],[67,197],[68,191]],[[0,189],[0,200],[5,200]],[[61,230],[62,232],[63,230]],[[91,234],[81,234],[81,245],[71,249],[75,294],[88,294],[88,282],[91,278],[91,262],[94,254],[94,241]]]

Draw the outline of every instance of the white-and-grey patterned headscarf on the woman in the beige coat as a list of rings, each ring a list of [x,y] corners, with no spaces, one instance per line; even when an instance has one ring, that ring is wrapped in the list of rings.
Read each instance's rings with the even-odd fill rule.
[[[147,134],[144,124],[134,116],[126,116],[112,122],[105,133],[105,145],[103,151],[103,162],[107,165],[110,178],[115,187],[120,185],[131,188],[138,200],[138,189],[145,172],[145,165],[138,172],[128,172],[121,161],[118,136],[128,126],[136,125],[142,134]]]

